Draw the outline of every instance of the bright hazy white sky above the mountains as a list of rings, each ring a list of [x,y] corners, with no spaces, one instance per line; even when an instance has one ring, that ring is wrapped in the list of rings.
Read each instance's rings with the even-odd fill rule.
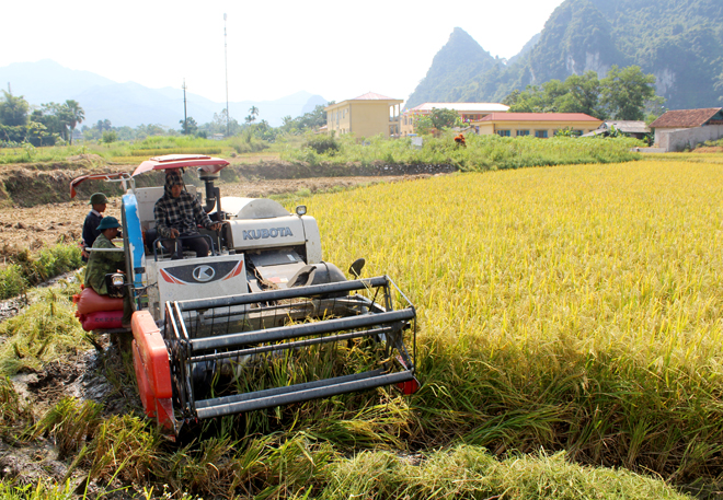
[[[510,58],[560,3],[9,1],[2,7],[0,67],[53,59],[154,89],[181,88],[185,78],[190,92],[223,102],[226,13],[231,102],[301,90],[330,101],[369,91],[406,100],[456,26],[492,56]]]

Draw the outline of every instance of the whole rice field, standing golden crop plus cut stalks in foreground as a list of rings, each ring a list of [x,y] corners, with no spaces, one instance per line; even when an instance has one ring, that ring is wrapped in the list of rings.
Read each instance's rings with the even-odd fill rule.
[[[256,411],[181,447],[135,416],[91,428],[73,416],[95,409],[65,400],[35,417],[33,435],[66,443],[89,480],[133,484],[139,498],[720,490],[722,173],[715,161],[578,164],[310,197],[324,258],[345,270],[365,257],[364,276],[389,275],[415,304],[416,395]],[[69,304],[46,302],[57,321],[71,317]],[[33,323],[5,325],[2,358],[12,344],[35,367],[39,337],[20,333]],[[3,373],[18,370],[5,361]],[[0,431],[14,432],[24,414],[2,387]]]

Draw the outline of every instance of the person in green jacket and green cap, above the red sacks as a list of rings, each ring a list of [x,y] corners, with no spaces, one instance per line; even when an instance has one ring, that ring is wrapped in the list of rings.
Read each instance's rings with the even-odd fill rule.
[[[108,287],[105,275],[116,271],[125,272],[125,252],[103,252],[104,249],[117,248],[113,239],[118,236],[120,223],[115,217],[104,217],[97,225],[99,236],[91,248],[88,266],[85,266],[85,288],[92,288],[99,295],[107,295]],[[97,252],[95,252],[97,249]],[[133,304],[128,289],[123,289],[123,318],[120,324],[124,328],[130,328],[130,316]]]

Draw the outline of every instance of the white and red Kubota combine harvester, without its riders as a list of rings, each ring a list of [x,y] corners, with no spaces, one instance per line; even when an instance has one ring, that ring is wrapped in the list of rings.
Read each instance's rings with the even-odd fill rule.
[[[347,280],[322,260],[317,221],[263,198],[221,198],[214,182],[228,162],[165,155],[128,175],[83,176],[123,184],[123,245],[133,293],[133,357],[146,414],[174,435],[185,423],[338,394],[398,385],[414,376],[416,313],[387,276]],[[204,210],[220,232],[199,229],[211,252],[171,255],[156,239],[153,206],[163,187],[138,175],[197,168]],[[195,186],[187,186],[195,194]],[[198,195],[200,198],[200,196]],[[409,349],[406,346],[411,346]]]

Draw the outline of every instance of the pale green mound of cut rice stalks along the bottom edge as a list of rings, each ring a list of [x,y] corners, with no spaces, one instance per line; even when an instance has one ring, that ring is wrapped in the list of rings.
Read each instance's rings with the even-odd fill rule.
[[[497,461],[484,450],[455,446],[428,456],[367,451],[322,472],[317,498],[348,499],[685,499],[663,481],[628,470],[581,467],[563,453]]]

